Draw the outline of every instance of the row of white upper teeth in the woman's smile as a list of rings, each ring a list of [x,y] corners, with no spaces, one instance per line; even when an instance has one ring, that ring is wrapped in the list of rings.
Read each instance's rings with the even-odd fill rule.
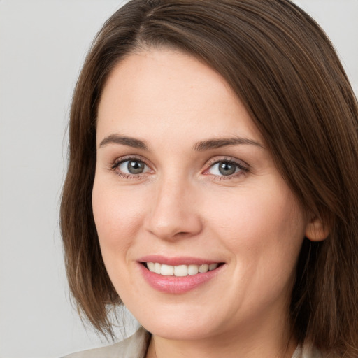
[[[177,276],[185,277],[187,275],[196,275],[198,273],[206,273],[208,271],[213,271],[217,268],[219,264],[203,264],[203,265],[179,265],[171,266],[159,264],[158,262],[147,262],[147,268],[150,272],[158,273],[159,275],[164,276]]]

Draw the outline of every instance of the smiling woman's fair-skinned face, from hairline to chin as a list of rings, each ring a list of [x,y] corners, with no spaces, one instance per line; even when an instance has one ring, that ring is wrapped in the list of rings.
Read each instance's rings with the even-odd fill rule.
[[[92,200],[110,279],[152,334],[285,326],[306,219],[206,64],[143,50],[115,67],[99,104]]]

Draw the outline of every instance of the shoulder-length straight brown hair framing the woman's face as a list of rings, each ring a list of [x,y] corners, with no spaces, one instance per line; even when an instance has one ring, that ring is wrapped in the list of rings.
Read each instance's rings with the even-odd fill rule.
[[[96,111],[114,66],[138,48],[199,57],[231,85],[303,208],[329,227],[305,238],[292,292],[293,334],[333,357],[358,356],[358,106],[329,39],[288,0],[132,0],[104,24],[80,73],[61,206],[78,310],[103,334],[117,305],[92,216]]]

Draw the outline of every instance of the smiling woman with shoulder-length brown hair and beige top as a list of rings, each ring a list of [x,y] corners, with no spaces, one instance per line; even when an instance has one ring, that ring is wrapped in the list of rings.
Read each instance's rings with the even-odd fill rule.
[[[287,0],[134,0],[73,96],[61,208],[70,357],[357,357],[357,99]]]

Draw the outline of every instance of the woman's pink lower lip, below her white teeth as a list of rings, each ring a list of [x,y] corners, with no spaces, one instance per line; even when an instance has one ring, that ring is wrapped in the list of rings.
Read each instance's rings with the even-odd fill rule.
[[[215,268],[213,271],[185,277],[159,275],[150,272],[143,264],[139,264],[139,266],[143,277],[152,288],[167,294],[184,294],[210,281],[222,270],[224,265]]]

